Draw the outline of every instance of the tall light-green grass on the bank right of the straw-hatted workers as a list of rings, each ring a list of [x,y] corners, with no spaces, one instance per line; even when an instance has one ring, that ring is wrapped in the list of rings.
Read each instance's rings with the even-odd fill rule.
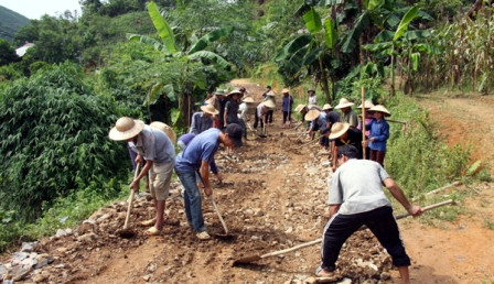
[[[408,121],[404,132],[391,124],[386,170],[409,197],[420,195],[461,179],[470,160],[470,150],[448,148],[438,136],[429,113],[415,99],[397,95],[387,102],[393,119]]]

